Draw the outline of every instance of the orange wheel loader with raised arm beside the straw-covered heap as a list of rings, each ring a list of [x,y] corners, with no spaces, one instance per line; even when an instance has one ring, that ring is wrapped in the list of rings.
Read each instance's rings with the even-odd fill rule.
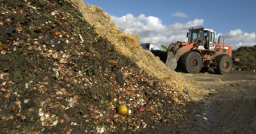
[[[179,69],[184,73],[199,73],[213,67],[217,74],[228,74],[232,63],[239,58],[232,58],[232,46],[224,45],[224,37],[215,41],[215,31],[204,27],[190,27],[186,37],[188,42],[171,43],[167,51],[151,50],[169,69]],[[223,42],[220,42],[223,41]]]

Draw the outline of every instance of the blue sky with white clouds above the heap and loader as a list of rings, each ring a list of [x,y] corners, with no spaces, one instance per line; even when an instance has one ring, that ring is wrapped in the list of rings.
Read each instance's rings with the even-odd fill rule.
[[[125,33],[138,34],[141,42],[161,48],[187,41],[189,27],[202,25],[225,37],[236,50],[256,44],[255,0],[83,0],[107,12]]]

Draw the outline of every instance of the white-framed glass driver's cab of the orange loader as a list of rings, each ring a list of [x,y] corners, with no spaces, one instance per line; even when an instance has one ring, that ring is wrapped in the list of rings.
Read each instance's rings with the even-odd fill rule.
[[[187,33],[188,43],[198,42],[198,49],[215,48],[215,31],[212,29],[205,29],[203,27],[190,27]]]

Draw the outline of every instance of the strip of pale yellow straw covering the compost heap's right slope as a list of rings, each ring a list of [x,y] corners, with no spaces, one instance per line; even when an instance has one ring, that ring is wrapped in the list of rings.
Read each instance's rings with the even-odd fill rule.
[[[149,75],[158,76],[171,84],[174,88],[182,92],[189,90],[193,95],[196,89],[187,83],[183,75],[169,69],[160,58],[154,56],[152,52],[143,50],[140,46],[139,35],[124,33],[116,26],[111,17],[104,12],[102,8],[94,5],[85,5],[82,0],[72,1],[74,6],[78,7],[83,14],[83,18],[89,24],[95,25],[95,31],[101,37],[108,39],[113,44],[116,52],[128,58],[131,58],[141,69],[144,69]],[[171,42],[170,42],[171,44]]]

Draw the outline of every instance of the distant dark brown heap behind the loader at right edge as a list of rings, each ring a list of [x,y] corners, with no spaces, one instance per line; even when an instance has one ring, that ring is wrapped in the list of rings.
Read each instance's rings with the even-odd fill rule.
[[[234,63],[233,68],[239,71],[256,70],[256,45],[242,46],[232,52],[233,58],[240,58],[238,63]]]

